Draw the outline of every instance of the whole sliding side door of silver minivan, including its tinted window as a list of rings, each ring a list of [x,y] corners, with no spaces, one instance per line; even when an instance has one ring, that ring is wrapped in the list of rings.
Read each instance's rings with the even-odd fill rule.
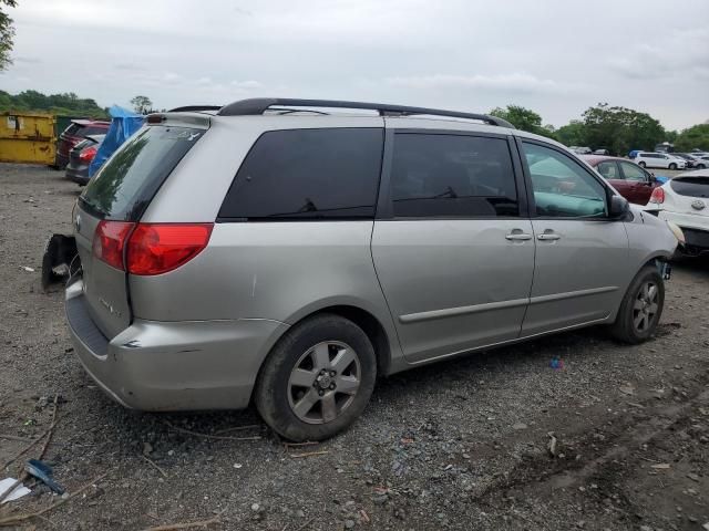
[[[513,149],[504,135],[388,131],[372,257],[411,363],[520,334],[535,242]]]

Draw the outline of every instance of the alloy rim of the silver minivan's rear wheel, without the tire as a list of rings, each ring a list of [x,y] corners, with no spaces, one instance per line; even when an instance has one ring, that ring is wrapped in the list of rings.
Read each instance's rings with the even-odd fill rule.
[[[298,358],[288,378],[288,403],[298,419],[327,424],[350,407],[361,383],[357,352],[347,343],[325,341]]]

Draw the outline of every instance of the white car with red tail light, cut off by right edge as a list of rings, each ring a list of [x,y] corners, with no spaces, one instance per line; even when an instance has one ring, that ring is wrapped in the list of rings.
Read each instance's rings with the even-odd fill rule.
[[[679,174],[653,190],[645,211],[678,226],[684,252],[709,252],[709,169]]]

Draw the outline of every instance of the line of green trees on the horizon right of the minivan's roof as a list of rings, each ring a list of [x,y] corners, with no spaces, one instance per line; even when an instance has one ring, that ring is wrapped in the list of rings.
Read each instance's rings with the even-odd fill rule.
[[[675,144],[676,152],[709,150],[709,123],[681,132],[667,131],[647,113],[607,103],[588,107],[580,119],[572,119],[559,128],[542,125],[542,116],[518,105],[495,107],[490,114],[506,119],[518,129],[553,138],[566,146],[608,149],[613,155],[627,155],[631,149],[654,150],[662,142]]]

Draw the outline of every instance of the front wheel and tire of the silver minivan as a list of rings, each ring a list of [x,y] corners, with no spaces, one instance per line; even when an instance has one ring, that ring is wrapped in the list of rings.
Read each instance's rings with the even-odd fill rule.
[[[657,329],[665,305],[665,281],[657,268],[645,266],[623,298],[612,335],[628,344],[647,341]]]

